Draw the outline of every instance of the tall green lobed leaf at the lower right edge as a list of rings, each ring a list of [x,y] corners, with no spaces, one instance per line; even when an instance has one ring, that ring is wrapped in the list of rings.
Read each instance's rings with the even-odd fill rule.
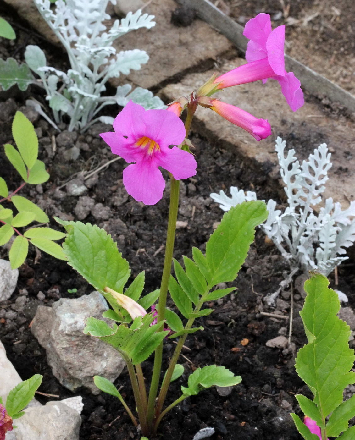
[[[307,297],[300,312],[308,344],[297,354],[296,371],[312,391],[314,399],[296,395],[303,413],[321,429],[322,440],[355,438],[355,426],[348,421],[355,416],[355,396],[343,401],[344,388],[355,383],[354,350],[349,348],[350,327],[338,318],[340,301],[328,288],[328,279],[312,275],[304,285]],[[330,415],[329,415],[330,414]],[[291,414],[305,440],[319,440],[296,414]],[[326,418],[329,416],[328,421]]]

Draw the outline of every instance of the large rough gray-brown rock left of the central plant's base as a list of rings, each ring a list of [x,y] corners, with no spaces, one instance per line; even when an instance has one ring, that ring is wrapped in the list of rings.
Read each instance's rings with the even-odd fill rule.
[[[74,391],[80,386],[94,394],[100,391],[92,376],[99,374],[114,381],[124,361],[110,345],[83,334],[85,319],[102,319],[107,310],[104,297],[98,292],[80,298],[62,298],[52,308],[38,306],[31,331],[47,351],[48,364],[59,382]]]

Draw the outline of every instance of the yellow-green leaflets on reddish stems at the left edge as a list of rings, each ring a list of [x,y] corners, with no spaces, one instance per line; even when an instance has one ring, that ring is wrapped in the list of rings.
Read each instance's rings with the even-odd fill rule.
[[[23,233],[18,228],[29,226],[33,222],[45,224],[49,222],[47,214],[36,204],[18,195],[26,183],[37,185],[49,179],[44,163],[37,159],[38,139],[31,122],[21,112],[16,112],[12,123],[12,135],[17,149],[7,143],[4,145],[5,154],[11,165],[15,167],[23,179],[22,184],[10,192],[3,177],[0,177],[0,246],[17,235],[11,245],[9,259],[13,269],[18,268],[25,261],[29,243],[49,253],[53,257],[65,260],[61,246],[54,243],[65,236],[62,232],[50,227],[29,227]],[[12,203],[18,211],[8,207]]]

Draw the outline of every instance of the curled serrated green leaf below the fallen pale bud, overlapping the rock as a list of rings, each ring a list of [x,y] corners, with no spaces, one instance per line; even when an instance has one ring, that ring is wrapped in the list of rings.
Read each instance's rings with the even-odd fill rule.
[[[148,359],[169,333],[168,331],[158,331],[163,326],[163,322],[151,325],[153,319],[152,314],[148,314],[134,319],[131,328],[122,324],[120,326],[114,324],[111,328],[104,321],[90,316],[86,320],[83,332],[107,342],[121,352],[124,357],[131,359],[134,364],[138,364]],[[141,325],[137,328],[139,320],[141,320]]]

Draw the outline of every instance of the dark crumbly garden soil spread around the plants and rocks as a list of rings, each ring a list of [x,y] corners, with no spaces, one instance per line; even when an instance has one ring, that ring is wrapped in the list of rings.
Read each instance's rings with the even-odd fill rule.
[[[4,58],[7,54],[14,53],[21,58],[26,44],[38,43],[35,37],[25,41],[25,33],[16,30],[20,34],[19,39],[14,44],[4,46]],[[49,46],[47,50],[51,51]],[[35,96],[44,102],[43,96],[38,93],[34,88],[25,94],[13,88],[0,94],[0,144],[12,141],[12,118],[16,110],[24,110],[22,105],[26,96]],[[38,203],[51,218],[56,215],[75,219],[74,209],[79,198],[68,194],[65,184],[78,177],[80,172],[95,169],[113,158],[111,151],[98,137],[100,132],[108,131],[110,127],[96,125],[84,135],[65,131],[58,134],[37,115],[28,115],[33,118],[37,128],[40,158],[45,162],[51,178],[43,185],[26,186],[20,194]],[[56,139],[55,150],[52,136]],[[218,205],[209,198],[211,192],[228,190],[233,185],[245,190],[253,189],[259,198],[272,197],[280,203],[283,202],[277,196],[280,194],[279,187],[266,187],[266,172],[255,174],[242,166],[237,155],[209,145],[196,133],[191,137],[196,146],[198,173],[194,178],[181,183],[178,220],[186,221],[188,225],[177,232],[174,257],[180,261],[182,255],[191,256],[192,246],[203,249],[213,231],[213,224],[223,214]],[[80,155],[75,161],[67,158],[67,152],[73,145],[80,148]],[[11,189],[15,189],[20,180],[17,173],[8,166],[2,150],[0,163],[1,176]],[[145,291],[148,293],[159,287],[162,273],[164,251],[161,246],[165,244],[169,191],[167,188],[163,199],[155,206],[144,206],[135,202],[126,194],[122,185],[124,166],[122,160],[116,161],[85,181],[88,189],[84,195],[92,198],[96,204],[96,209],[85,221],[105,227],[112,234],[123,256],[129,261],[133,276],[143,269],[146,270]],[[59,228],[54,220],[51,220],[51,227]],[[0,257],[7,258],[7,252],[6,246],[0,249]],[[352,260],[340,266],[338,286],[348,295],[351,305],[355,303],[353,268]],[[219,394],[214,388],[185,400],[163,421],[160,438],[190,440],[205,426],[215,429],[215,434],[211,437],[213,440],[300,438],[289,413],[300,413],[294,398],[297,392],[311,397],[294,370],[296,349],[306,341],[298,315],[302,307],[302,297],[297,292],[294,295],[292,344],[289,348],[282,350],[265,345],[266,341],[279,334],[288,334],[288,319],[270,318],[260,314],[264,311],[289,316],[289,292],[283,293],[276,308],[268,308],[263,304],[263,297],[277,289],[283,279],[283,272],[287,270],[274,246],[267,246],[263,234],[257,231],[246,263],[237,280],[230,283],[238,287],[237,292],[208,304],[215,311],[200,320],[205,330],[187,339],[187,348],[181,358],[185,374],[172,385],[168,403],[178,397],[180,386],[186,384],[188,375],[197,367],[207,364],[215,363],[229,368],[234,374],[241,375],[242,383],[234,387],[227,396],[223,396],[222,392]],[[68,289],[73,288],[77,292],[68,293]],[[78,297],[91,291],[92,287],[67,264],[45,253],[38,256],[32,247],[26,263],[20,268],[18,287],[10,300],[0,305],[0,339],[5,345],[7,355],[23,379],[35,373],[43,374],[41,392],[57,394],[60,399],[73,395],[54,378],[46,363],[44,349],[30,332],[29,325],[36,308],[39,304],[49,306],[61,297]],[[39,292],[44,294],[43,300],[38,299]],[[248,339],[248,344],[242,345],[242,339]],[[166,341],[165,359],[171,356],[173,349],[174,342]],[[149,378],[152,359],[144,363],[143,370]],[[125,371],[115,384],[118,387],[123,386],[122,395],[134,408],[128,374]],[[80,433],[82,440],[140,438],[114,397],[105,394],[93,396],[85,389],[78,390],[78,394],[84,396]],[[42,403],[48,400],[40,395],[37,398]]]

